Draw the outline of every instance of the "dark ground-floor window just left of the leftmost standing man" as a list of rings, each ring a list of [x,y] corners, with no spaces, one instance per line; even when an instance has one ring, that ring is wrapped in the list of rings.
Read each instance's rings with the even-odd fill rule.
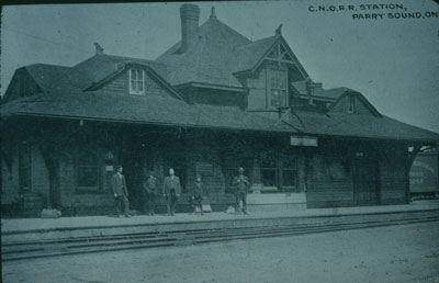
[[[78,156],[77,184],[78,191],[98,191],[99,166],[97,154],[82,151]]]

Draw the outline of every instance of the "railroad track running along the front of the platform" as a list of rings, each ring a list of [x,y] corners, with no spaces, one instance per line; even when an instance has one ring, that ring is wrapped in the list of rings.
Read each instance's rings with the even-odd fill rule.
[[[44,241],[3,242],[1,254],[2,261],[26,260],[91,252],[190,246],[238,239],[306,235],[427,222],[439,222],[439,216],[331,224],[196,229],[166,233],[155,231],[117,236],[64,238]]]

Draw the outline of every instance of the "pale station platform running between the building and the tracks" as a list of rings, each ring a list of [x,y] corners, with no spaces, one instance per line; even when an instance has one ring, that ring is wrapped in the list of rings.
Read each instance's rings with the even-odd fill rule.
[[[2,242],[50,240],[59,238],[99,237],[140,233],[169,233],[196,229],[267,227],[281,225],[368,222],[401,217],[439,215],[439,201],[417,201],[406,205],[313,208],[275,213],[228,214],[212,212],[204,215],[175,216],[81,216],[59,218],[1,219]]]

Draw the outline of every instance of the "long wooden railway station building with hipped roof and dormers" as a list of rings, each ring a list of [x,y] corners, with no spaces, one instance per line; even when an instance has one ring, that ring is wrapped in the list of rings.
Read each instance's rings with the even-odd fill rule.
[[[380,113],[367,93],[324,89],[282,36],[250,41],[212,9],[183,4],[181,41],[153,60],[95,55],[75,66],[15,70],[1,103],[5,214],[108,214],[124,167],[143,211],[149,171],[182,181],[179,210],[201,174],[214,211],[234,204],[238,167],[249,211],[409,202],[408,172],[439,134]],[[173,29],[180,29],[175,26]]]

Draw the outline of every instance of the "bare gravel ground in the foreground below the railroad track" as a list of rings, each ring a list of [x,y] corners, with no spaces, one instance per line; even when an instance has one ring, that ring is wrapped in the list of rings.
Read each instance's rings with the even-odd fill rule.
[[[3,282],[439,283],[439,223],[2,263]]]

